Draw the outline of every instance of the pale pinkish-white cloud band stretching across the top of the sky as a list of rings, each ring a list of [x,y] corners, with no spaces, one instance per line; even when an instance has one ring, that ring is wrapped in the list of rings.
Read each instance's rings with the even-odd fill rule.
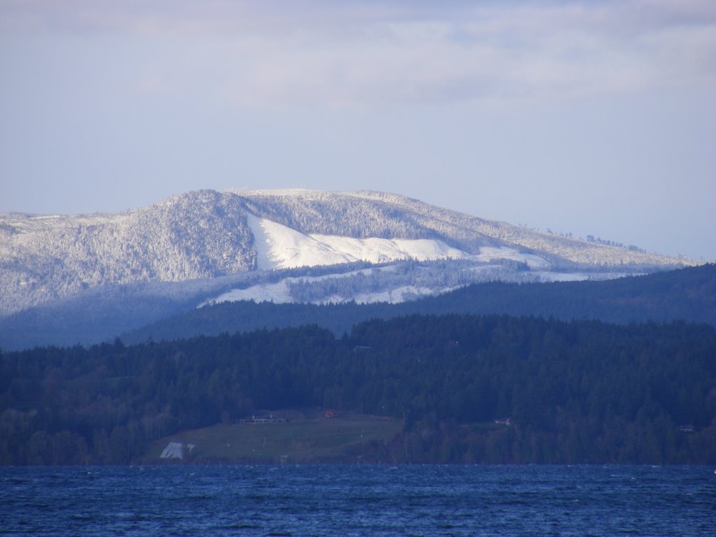
[[[238,106],[543,102],[714,84],[716,73],[710,0],[58,4],[8,1],[0,18],[14,31],[174,47],[141,84],[203,84]]]

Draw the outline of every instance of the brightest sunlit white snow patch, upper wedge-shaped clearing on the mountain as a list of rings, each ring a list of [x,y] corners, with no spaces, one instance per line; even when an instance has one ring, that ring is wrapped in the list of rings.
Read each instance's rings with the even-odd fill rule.
[[[256,262],[260,270],[337,265],[355,261],[387,263],[400,259],[430,261],[469,256],[458,248],[433,239],[308,235],[252,214],[248,214],[247,220],[255,239]]]

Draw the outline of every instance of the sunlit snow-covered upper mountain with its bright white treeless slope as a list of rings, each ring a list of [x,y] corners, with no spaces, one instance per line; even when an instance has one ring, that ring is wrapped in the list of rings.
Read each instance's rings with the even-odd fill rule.
[[[475,279],[606,277],[684,264],[633,248],[488,221],[401,195],[200,190],[119,214],[0,214],[0,315],[107,286],[399,260],[445,260],[443,269],[460,273],[446,276],[442,286],[420,287],[412,276],[388,278],[386,269],[375,271],[373,281],[392,281],[395,289],[407,289],[401,297],[451,289]],[[435,267],[434,275],[440,272]],[[367,278],[354,269],[336,271],[341,272],[352,281]],[[291,277],[297,279],[283,284],[294,289],[291,300],[321,286],[325,293],[315,298],[314,292],[315,301],[355,298],[353,291],[331,293],[326,278]],[[266,284],[238,280],[244,291]],[[231,289],[218,289],[204,300],[227,299]],[[373,296],[380,297],[391,289],[388,285],[374,291]]]

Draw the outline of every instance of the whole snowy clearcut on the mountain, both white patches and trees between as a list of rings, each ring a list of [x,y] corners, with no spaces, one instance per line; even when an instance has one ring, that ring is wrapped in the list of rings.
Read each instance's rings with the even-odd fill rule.
[[[247,214],[247,223],[253,233],[259,270],[340,266],[356,261],[395,264],[349,272],[337,269],[337,273],[323,276],[290,276],[244,289],[231,289],[200,306],[226,301],[396,304],[484,281],[576,281],[595,276],[554,271],[545,258],[506,246],[483,246],[479,253],[472,255],[433,239],[353,238],[301,233],[251,213]],[[427,264],[414,265],[412,271],[398,274],[398,266],[405,269],[402,260]],[[513,261],[524,263],[524,266],[516,269]],[[447,266],[443,266],[445,263]]]

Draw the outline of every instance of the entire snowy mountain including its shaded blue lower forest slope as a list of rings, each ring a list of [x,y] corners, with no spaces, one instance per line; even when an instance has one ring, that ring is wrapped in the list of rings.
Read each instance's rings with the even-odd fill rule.
[[[490,281],[601,280],[692,265],[365,191],[200,190],[126,213],[1,213],[0,347],[111,341],[236,299],[397,303]],[[351,321],[338,329],[395,314],[378,310],[349,309],[342,316]],[[220,324],[277,326],[270,318]]]

